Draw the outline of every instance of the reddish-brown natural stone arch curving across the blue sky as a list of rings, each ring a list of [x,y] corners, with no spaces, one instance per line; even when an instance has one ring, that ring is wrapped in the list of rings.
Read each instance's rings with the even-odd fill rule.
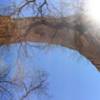
[[[100,70],[100,37],[96,33],[76,31],[71,18],[20,18],[0,16],[0,44],[20,42],[60,44],[75,49]]]

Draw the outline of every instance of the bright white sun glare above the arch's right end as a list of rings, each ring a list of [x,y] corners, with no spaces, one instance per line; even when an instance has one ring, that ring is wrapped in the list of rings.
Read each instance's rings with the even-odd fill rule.
[[[87,0],[86,9],[88,16],[100,24],[100,0]]]

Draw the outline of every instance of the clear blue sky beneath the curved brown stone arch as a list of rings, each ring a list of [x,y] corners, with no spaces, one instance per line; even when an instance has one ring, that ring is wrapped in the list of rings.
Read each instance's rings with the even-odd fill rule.
[[[0,3],[7,4],[8,0],[0,0]],[[5,63],[15,64],[16,50],[16,47],[12,46],[8,53],[1,56]],[[48,72],[51,100],[100,100],[100,73],[78,52],[61,46],[43,50],[33,48],[30,52],[31,59],[24,60],[26,70],[33,70],[34,65]],[[14,70],[16,71],[16,67],[12,68],[12,75]],[[34,100],[35,96],[30,98],[27,100]]]

